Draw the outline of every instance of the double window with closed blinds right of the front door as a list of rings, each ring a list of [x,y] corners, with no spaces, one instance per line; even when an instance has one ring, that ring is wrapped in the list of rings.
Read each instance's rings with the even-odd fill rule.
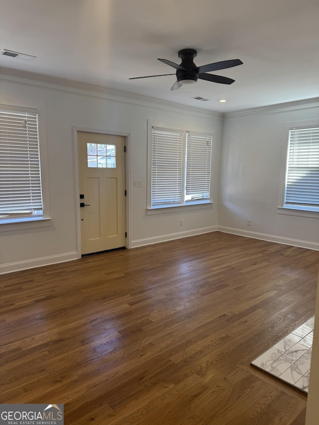
[[[210,202],[212,136],[152,128],[149,208]]]

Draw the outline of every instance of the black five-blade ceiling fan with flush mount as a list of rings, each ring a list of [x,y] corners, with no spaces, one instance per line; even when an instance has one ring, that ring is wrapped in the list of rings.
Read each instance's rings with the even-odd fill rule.
[[[166,65],[176,69],[177,81],[172,85],[170,90],[177,90],[183,84],[196,83],[197,79],[212,81],[213,83],[220,84],[232,84],[235,80],[222,77],[221,75],[206,74],[206,72],[217,71],[219,69],[231,68],[232,66],[241,65],[243,62],[240,59],[223,60],[221,62],[209,63],[197,67],[194,64],[194,57],[197,56],[197,51],[194,49],[182,49],[178,52],[178,57],[181,58],[181,63],[171,62],[167,59],[158,59]],[[147,75],[145,77],[134,77],[129,80],[137,80],[140,78],[151,78],[151,77],[162,77],[164,75],[175,75],[175,74],[160,74],[160,75]]]

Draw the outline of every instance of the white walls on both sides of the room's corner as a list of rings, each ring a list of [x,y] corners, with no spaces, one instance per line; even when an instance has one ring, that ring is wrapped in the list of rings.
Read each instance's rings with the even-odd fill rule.
[[[221,114],[201,109],[3,73],[0,103],[40,111],[46,126],[52,217],[43,228],[3,232],[0,226],[0,273],[78,258],[72,126],[130,135],[130,247],[218,228],[319,249],[318,218],[278,214],[277,209],[285,123],[319,119],[318,100],[226,114],[222,122]],[[214,134],[212,208],[146,214],[148,120]],[[142,188],[134,188],[133,180],[142,180]]]

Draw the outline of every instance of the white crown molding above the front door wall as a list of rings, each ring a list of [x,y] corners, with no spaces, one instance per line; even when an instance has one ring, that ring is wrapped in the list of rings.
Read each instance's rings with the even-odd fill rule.
[[[41,74],[34,74],[31,72],[19,71],[10,68],[0,67],[0,80],[47,90],[70,93],[74,95],[105,99],[113,102],[125,103],[128,105],[153,108],[166,112],[168,111],[178,114],[181,113],[214,121],[222,121],[224,115],[221,112],[207,111],[200,108],[193,108],[190,106],[161,101],[145,96],[119,92],[108,89],[106,87],[78,83],[71,80],[64,80],[62,78],[48,77]]]

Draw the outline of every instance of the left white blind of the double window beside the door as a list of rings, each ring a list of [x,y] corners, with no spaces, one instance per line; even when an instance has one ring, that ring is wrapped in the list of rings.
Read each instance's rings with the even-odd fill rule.
[[[182,133],[152,130],[152,206],[180,204]]]

